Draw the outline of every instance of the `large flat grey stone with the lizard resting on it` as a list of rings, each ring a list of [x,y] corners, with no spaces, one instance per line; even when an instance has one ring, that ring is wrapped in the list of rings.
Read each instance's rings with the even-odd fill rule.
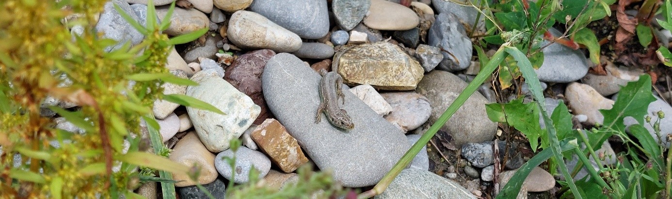
[[[349,113],[354,129],[345,131],[327,120],[314,123],[321,103],[320,80],[317,72],[292,54],[274,56],[262,75],[269,109],[317,167],[333,171],[334,179],[343,186],[376,184],[409,149],[403,132],[345,90],[347,86],[343,86],[345,104],[341,109]]]

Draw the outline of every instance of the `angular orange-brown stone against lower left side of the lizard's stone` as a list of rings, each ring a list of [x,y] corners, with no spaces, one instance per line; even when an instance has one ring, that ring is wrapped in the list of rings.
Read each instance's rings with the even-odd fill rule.
[[[251,137],[259,145],[259,149],[283,172],[294,172],[300,165],[308,162],[296,139],[276,119],[263,121],[252,132]]]

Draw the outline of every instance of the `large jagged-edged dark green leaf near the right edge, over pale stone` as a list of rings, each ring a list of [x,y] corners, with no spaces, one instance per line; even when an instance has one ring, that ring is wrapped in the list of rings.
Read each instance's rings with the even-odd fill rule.
[[[625,117],[634,118],[637,123],[644,123],[648,104],[656,101],[651,94],[651,77],[648,74],[639,76],[636,82],[628,82],[618,92],[618,98],[610,110],[599,110],[604,115],[604,125],[608,129],[625,132]]]

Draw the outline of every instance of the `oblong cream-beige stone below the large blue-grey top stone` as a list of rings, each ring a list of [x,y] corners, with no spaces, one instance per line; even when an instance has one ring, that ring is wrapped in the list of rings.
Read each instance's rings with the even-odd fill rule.
[[[251,11],[233,13],[226,34],[230,42],[242,48],[267,48],[274,52],[301,48],[301,38],[296,34]]]

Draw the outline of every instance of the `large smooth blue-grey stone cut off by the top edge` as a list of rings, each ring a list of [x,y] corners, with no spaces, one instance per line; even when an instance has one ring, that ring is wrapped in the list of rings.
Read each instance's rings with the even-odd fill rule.
[[[319,39],[329,32],[329,11],[325,0],[255,0],[250,10],[304,39]]]

